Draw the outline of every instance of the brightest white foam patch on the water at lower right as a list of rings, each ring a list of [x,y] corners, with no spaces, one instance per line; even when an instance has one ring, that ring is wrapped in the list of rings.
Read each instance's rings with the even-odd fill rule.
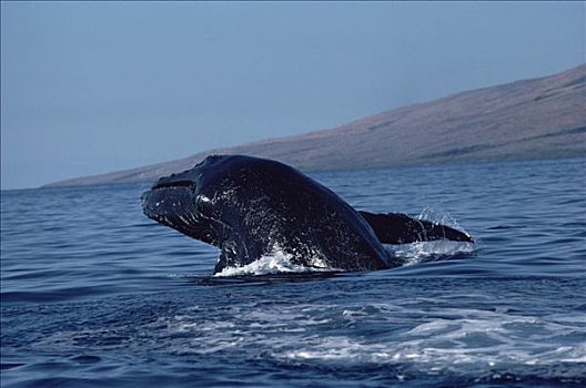
[[[559,335],[576,336],[574,327],[538,318],[485,312],[475,312],[474,315],[475,319],[431,320],[396,334],[393,338],[377,341],[321,336],[300,341],[302,346],[295,349],[273,355],[297,361],[416,363],[427,370],[459,371],[462,368],[489,370],[498,365],[555,366],[558,363],[586,363],[586,343],[567,346],[557,344]],[[522,327],[514,328],[515,325]]]

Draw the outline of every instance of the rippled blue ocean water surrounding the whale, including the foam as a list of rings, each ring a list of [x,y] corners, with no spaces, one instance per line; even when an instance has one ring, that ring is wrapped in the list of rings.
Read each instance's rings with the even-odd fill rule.
[[[2,387],[586,386],[585,159],[312,176],[476,244],[218,277],[213,247],[142,215],[146,185],[3,191]]]

